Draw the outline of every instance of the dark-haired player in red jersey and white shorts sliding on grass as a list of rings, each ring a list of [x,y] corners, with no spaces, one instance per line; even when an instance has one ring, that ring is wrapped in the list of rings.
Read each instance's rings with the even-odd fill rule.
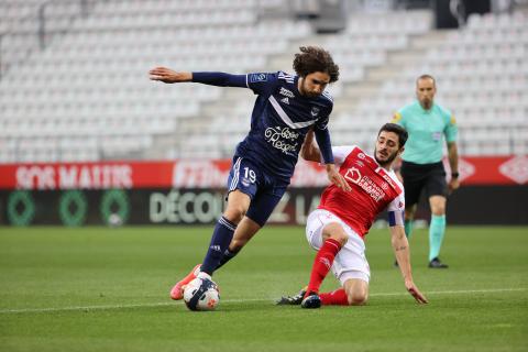
[[[318,209],[309,215],[306,226],[308,242],[318,251],[310,282],[299,295],[283,297],[278,305],[300,304],[302,308],[364,305],[369,297],[370,268],[363,239],[374,219],[385,209],[405,287],[416,301],[427,304],[410,270],[409,244],[404,229],[404,187],[391,168],[396,156],[404,151],[407,136],[404,128],[386,123],[378,132],[373,156],[354,145],[332,147],[336,165],[352,191],[342,191],[334,185],[324,189]],[[312,142],[310,133],[301,147],[301,156],[320,162],[319,148]],[[320,294],[319,287],[330,270],[342,287]]]

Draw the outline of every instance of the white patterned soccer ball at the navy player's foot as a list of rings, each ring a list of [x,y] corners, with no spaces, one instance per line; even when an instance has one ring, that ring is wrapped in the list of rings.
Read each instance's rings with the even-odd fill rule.
[[[218,285],[208,278],[197,277],[185,287],[184,301],[190,310],[215,310],[220,301]]]

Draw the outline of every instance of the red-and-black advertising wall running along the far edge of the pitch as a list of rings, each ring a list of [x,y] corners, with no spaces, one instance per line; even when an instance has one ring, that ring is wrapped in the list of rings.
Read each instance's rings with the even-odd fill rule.
[[[229,168],[228,160],[0,165],[0,224],[210,224]],[[450,223],[528,224],[528,157],[463,157],[460,173]],[[270,223],[304,224],[326,184],[320,166],[299,162]],[[427,208],[422,199],[418,219]]]

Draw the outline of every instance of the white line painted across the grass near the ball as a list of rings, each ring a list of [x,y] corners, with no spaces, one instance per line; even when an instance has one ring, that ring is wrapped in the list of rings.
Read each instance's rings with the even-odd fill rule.
[[[509,293],[509,292],[524,292],[528,288],[490,288],[490,289],[461,289],[461,290],[437,290],[437,292],[425,292],[426,295],[464,295],[464,294],[497,294],[497,293]],[[386,296],[407,296],[408,293],[380,293],[372,294],[371,297],[386,297]],[[245,302],[245,301],[273,301],[273,299],[267,298],[250,298],[250,299],[224,299],[224,302]],[[59,312],[59,311],[91,311],[91,310],[110,310],[110,309],[131,309],[131,308],[148,308],[148,307],[166,307],[175,306],[180,302],[175,301],[163,301],[163,302],[153,302],[153,304],[138,304],[138,305],[113,305],[113,306],[80,306],[80,307],[58,307],[58,308],[23,308],[23,309],[2,309],[0,314],[24,314],[24,312]]]

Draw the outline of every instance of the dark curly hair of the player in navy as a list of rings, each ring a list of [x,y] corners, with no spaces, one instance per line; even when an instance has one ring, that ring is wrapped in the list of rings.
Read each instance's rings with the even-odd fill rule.
[[[294,69],[300,77],[312,73],[326,73],[330,82],[339,79],[339,66],[333,63],[332,55],[322,47],[301,46],[300,53],[295,54]]]

